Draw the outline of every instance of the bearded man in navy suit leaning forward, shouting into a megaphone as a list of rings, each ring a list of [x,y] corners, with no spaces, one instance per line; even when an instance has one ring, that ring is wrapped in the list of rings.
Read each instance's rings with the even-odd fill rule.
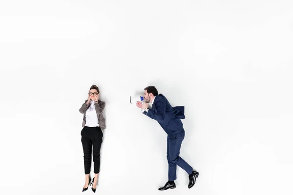
[[[136,106],[142,109],[144,115],[158,121],[167,133],[167,161],[168,161],[168,181],[159,190],[174,189],[176,185],[176,166],[178,165],[188,173],[188,188],[195,184],[198,172],[180,156],[181,143],[185,136],[181,119],[184,119],[184,106],[172,107],[167,98],[162,94],[158,95],[158,90],[154,86],[145,88],[144,98],[146,103],[136,102]],[[152,103],[152,109],[148,108],[148,103]]]

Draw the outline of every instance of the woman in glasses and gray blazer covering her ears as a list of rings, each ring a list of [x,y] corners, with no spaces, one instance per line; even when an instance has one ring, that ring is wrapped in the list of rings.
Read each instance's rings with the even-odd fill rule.
[[[89,89],[88,99],[80,108],[80,113],[84,114],[83,129],[81,132],[82,144],[84,149],[84,173],[85,184],[83,192],[90,185],[91,178],[89,176],[91,166],[91,153],[93,148],[93,161],[95,177],[92,180],[92,191],[96,193],[98,174],[100,173],[100,149],[103,142],[103,132],[105,129],[105,118],[103,110],[105,102],[100,100],[99,88],[92,85]]]

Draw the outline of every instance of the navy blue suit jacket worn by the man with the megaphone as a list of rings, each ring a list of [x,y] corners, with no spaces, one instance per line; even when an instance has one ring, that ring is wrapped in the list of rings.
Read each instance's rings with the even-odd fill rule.
[[[156,96],[152,109],[149,109],[146,116],[158,121],[168,137],[182,137],[185,134],[181,119],[184,119],[184,106],[172,107],[163,94]]]

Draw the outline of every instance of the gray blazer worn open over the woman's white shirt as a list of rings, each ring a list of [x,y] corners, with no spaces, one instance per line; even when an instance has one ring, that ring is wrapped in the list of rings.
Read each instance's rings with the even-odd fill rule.
[[[87,100],[84,101],[82,107],[80,108],[80,113],[84,114],[84,119],[83,119],[83,127],[85,125],[85,111],[89,108],[90,103],[87,105],[86,104]],[[106,128],[106,124],[105,124],[105,118],[103,116],[103,110],[105,108],[105,101],[101,101],[100,99],[98,100],[98,102],[95,103],[95,108],[96,108],[96,112],[97,112],[97,117],[98,117],[98,121],[99,121],[99,126],[102,129]]]

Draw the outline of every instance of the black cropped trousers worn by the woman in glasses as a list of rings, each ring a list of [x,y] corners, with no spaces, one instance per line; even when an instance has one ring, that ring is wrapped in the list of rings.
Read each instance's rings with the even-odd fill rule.
[[[90,173],[91,153],[93,152],[94,173],[98,174],[100,173],[100,150],[103,142],[103,132],[100,127],[84,126],[81,136],[84,149],[84,173]]]

